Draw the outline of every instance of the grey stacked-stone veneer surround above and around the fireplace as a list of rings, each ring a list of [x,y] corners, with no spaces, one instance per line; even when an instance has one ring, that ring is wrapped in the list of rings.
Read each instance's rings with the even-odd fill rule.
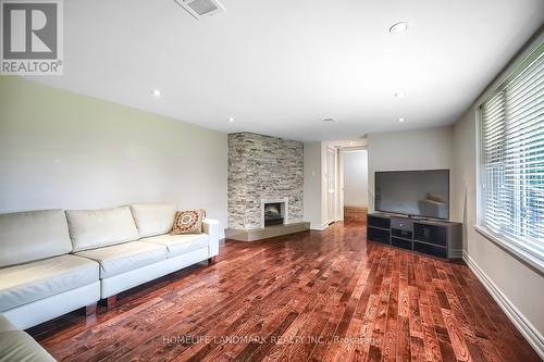
[[[302,142],[251,133],[230,134],[227,192],[230,228],[262,227],[261,201],[284,198],[288,200],[288,223],[301,222]]]

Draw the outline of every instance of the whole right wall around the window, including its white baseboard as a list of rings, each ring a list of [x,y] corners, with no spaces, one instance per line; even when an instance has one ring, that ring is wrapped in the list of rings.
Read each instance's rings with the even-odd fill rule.
[[[512,252],[479,234],[478,222],[478,108],[540,43],[541,32],[496,77],[454,126],[453,217],[463,223],[463,258],[484,280],[492,296],[544,359],[544,275]]]

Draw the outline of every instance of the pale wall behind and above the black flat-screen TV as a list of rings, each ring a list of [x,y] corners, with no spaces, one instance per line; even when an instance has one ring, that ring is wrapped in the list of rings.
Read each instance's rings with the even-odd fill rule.
[[[369,212],[374,211],[374,173],[453,167],[453,127],[368,135]],[[453,172],[450,171],[450,178]],[[453,179],[453,178],[452,178]],[[450,179],[450,184],[452,184]],[[450,199],[452,199],[450,187]]]

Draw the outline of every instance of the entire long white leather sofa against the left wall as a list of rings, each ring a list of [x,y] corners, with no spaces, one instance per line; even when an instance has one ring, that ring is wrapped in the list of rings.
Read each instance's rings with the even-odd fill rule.
[[[0,215],[0,314],[24,329],[219,253],[219,223],[169,232],[169,203]]]

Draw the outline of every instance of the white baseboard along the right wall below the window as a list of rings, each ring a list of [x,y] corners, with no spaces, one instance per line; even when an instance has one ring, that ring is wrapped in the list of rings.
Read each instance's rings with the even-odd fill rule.
[[[480,266],[470,258],[463,250],[462,260],[469,265],[470,270],[475,274],[478,279],[483,284],[485,289],[491,294],[498,307],[505,312],[508,319],[514,323],[516,328],[526,337],[529,344],[534,348],[536,353],[544,360],[544,338],[536,328],[521,314],[521,312],[512,304],[512,302],[504,295],[503,291],[493,283],[492,279],[480,269]]]

